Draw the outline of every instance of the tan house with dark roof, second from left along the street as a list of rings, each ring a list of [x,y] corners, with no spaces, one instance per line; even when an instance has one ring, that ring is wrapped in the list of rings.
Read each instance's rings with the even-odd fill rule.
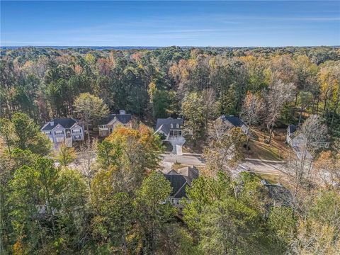
[[[102,118],[98,125],[99,136],[107,137],[118,126],[132,128],[132,115],[120,110],[119,114],[110,114]]]

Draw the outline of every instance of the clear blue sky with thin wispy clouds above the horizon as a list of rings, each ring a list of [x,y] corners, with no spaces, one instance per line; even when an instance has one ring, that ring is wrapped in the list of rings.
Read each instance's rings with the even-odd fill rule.
[[[1,1],[13,45],[340,45],[340,1]]]

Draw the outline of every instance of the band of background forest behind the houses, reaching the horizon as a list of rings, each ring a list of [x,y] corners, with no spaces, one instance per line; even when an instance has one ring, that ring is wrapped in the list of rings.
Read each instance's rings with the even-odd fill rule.
[[[323,115],[333,131],[339,126],[339,52],[336,47],[5,49],[0,113],[10,118],[21,111],[41,124],[73,116],[75,98],[89,92],[113,112],[125,109],[154,120],[191,115],[182,104],[196,93],[208,120],[222,113],[239,115],[249,93],[267,102],[266,113],[273,111],[268,94],[281,82],[276,93],[285,94],[282,88],[289,84],[292,95],[276,109],[274,125],[300,123],[314,113]],[[270,121],[266,124],[270,128]]]

